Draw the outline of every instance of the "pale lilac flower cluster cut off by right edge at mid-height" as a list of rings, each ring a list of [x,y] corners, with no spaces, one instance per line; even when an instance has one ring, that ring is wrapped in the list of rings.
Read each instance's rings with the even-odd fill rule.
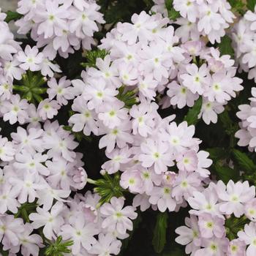
[[[236,138],[238,138],[238,146],[248,146],[249,151],[255,151],[256,148],[256,116],[255,116],[255,102],[256,102],[256,88],[252,88],[252,97],[249,98],[250,105],[239,105],[240,111],[236,113],[236,116],[241,119],[239,126],[241,129],[236,132]]]

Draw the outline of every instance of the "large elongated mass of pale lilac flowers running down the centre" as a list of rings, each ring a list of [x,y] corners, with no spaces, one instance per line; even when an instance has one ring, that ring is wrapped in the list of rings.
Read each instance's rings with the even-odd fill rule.
[[[165,41],[154,41],[157,34],[173,37],[173,27],[162,28],[165,19],[145,12],[134,15],[132,20],[135,24],[119,23],[102,40],[100,47],[106,47],[110,54],[97,59],[97,68],[89,67],[83,72],[83,80],[72,80],[80,95],[73,102],[75,114],[69,124],[74,132],[102,135],[99,148],[106,148],[109,159],[102,165],[102,173],[122,172],[121,187],[137,194],[134,206],[140,206],[142,211],[150,206],[159,211],[175,211],[186,205],[185,200],[193,191],[203,189],[211,160],[206,151],[199,151],[200,140],[193,138],[194,126],[188,126],[186,121],[176,124],[174,116],[162,118],[158,105],[151,101],[156,87],[161,89],[167,83],[173,63],[184,60],[182,48],[173,46],[168,52],[167,47],[161,47]],[[121,31],[136,31],[138,35],[132,38],[132,34]],[[124,42],[113,39],[116,34]],[[146,40],[146,44],[150,40],[151,47],[143,48],[138,38]],[[222,66],[222,61],[219,63]],[[139,90],[138,103],[130,109],[121,101],[122,84],[128,92]]]

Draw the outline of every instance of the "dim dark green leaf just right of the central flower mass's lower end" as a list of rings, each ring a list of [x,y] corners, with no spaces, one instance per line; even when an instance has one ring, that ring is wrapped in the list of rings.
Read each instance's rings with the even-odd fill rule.
[[[240,178],[237,168],[232,169],[226,165],[221,165],[220,162],[216,162],[213,167],[215,172],[217,173],[218,178],[222,180],[225,184],[227,184],[230,179],[236,182]]]

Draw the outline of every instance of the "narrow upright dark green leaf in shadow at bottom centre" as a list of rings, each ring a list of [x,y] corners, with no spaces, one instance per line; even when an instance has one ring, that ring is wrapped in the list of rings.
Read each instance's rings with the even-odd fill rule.
[[[162,252],[162,250],[165,248],[166,244],[166,231],[167,231],[167,219],[168,214],[167,212],[160,212],[157,215],[157,222],[154,227],[154,235],[152,244],[154,246],[154,251],[157,253]]]

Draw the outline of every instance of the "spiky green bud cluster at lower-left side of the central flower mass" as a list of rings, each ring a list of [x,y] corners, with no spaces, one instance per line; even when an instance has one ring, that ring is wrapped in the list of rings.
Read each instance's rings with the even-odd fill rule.
[[[108,203],[112,197],[122,197],[125,191],[119,184],[120,175],[116,173],[115,176],[110,176],[108,173],[103,175],[97,181],[88,179],[88,182],[94,184],[94,192],[100,195],[99,206],[103,203]]]

